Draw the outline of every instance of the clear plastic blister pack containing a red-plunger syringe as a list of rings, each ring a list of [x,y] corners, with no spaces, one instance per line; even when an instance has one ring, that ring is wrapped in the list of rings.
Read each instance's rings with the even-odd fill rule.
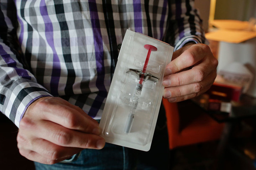
[[[148,151],[173,47],[127,30],[100,121],[106,142]]]

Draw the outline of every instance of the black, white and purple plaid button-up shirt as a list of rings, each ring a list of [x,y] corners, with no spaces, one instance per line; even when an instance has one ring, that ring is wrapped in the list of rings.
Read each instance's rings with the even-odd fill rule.
[[[0,111],[59,96],[100,119],[126,29],[179,49],[204,43],[189,0],[1,0]]]

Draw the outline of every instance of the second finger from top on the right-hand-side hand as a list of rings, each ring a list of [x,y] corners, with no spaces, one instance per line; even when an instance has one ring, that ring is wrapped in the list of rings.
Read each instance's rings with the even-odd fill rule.
[[[183,72],[167,75],[163,79],[163,86],[164,87],[182,86],[182,85],[197,83],[204,80],[212,72],[216,74],[216,70],[213,71],[211,69],[207,69],[207,67],[206,68],[202,68],[202,67],[203,66],[195,66],[194,68],[183,71]]]

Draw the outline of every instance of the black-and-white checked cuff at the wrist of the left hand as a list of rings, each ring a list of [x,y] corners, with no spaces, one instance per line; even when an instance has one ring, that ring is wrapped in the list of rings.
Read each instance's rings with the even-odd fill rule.
[[[40,97],[52,96],[42,85],[28,79],[16,80],[7,92],[3,111],[19,128],[28,106]]]

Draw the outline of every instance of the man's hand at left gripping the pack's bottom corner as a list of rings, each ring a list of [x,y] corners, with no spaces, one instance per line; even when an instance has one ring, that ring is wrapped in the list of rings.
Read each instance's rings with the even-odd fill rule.
[[[84,148],[103,148],[105,140],[99,134],[98,122],[79,107],[59,97],[42,97],[20,121],[17,142],[27,159],[54,164]]]

